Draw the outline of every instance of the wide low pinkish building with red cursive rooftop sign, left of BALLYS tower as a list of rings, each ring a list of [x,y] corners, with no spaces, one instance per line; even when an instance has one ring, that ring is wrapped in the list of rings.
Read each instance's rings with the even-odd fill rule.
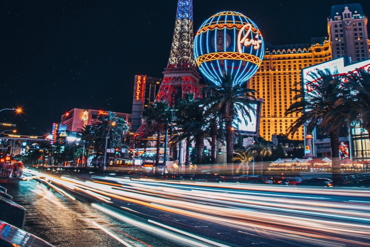
[[[113,113],[119,118],[124,118],[128,124],[131,125],[132,114],[120,112]],[[60,123],[62,125],[67,125],[67,131],[77,131],[77,129],[81,129],[85,125],[101,123],[105,115],[108,115],[108,111],[73,108],[71,111],[61,116]]]

